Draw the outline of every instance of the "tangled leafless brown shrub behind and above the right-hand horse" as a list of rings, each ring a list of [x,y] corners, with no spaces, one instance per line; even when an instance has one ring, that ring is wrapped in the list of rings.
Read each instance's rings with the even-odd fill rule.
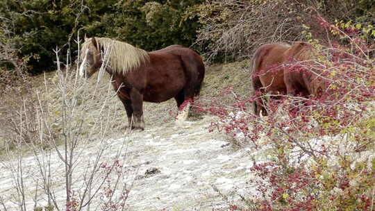
[[[242,60],[260,44],[302,40],[303,26],[311,29],[313,37],[325,41],[329,33],[314,16],[322,14],[331,22],[335,19],[356,22],[356,12],[369,11],[366,3],[369,1],[215,0],[206,1],[192,12],[199,14],[203,25],[197,42],[206,46],[208,61],[216,56],[224,56],[219,60]],[[371,17],[370,14],[366,13],[366,17]],[[367,19],[363,22],[369,23]]]

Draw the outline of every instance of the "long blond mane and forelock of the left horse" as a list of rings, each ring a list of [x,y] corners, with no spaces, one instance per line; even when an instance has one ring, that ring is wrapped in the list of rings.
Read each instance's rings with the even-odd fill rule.
[[[140,67],[142,62],[149,60],[149,54],[143,49],[133,47],[133,45],[107,37],[94,37],[97,41],[97,49],[100,49],[107,60],[112,73],[126,74],[132,69]],[[92,44],[89,38],[82,44],[81,59],[85,57],[86,50]],[[107,55],[108,54],[108,55]]]

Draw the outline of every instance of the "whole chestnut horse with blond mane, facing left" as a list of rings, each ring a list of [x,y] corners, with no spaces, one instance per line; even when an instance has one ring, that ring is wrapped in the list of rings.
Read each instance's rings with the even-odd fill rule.
[[[140,130],[144,130],[143,101],[160,103],[174,97],[177,120],[184,121],[205,71],[199,54],[179,45],[147,52],[126,42],[92,37],[83,43],[80,57],[81,76],[89,78],[99,69],[112,76],[129,126]]]

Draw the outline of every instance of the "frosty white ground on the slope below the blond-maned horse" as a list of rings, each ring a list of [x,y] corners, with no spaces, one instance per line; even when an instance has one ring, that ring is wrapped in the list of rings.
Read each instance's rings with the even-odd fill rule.
[[[253,164],[252,155],[261,153],[247,149],[234,150],[228,137],[219,133],[208,133],[213,117],[197,121],[187,121],[183,126],[165,123],[151,126],[142,132],[131,133],[108,140],[108,149],[103,160],[111,160],[115,149],[126,145],[126,162],[134,167],[128,172],[129,180],[134,182],[126,203],[128,210],[226,210],[226,205],[240,198],[233,192],[247,195],[251,185],[249,167]],[[83,160],[75,168],[74,174],[80,183],[85,167],[94,155],[99,142],[84,147]],[[53,189],[60,208],[64,208],[65,181],[64,167],[56,152],[51,153]],[[257,162],[260,160],[257,159]],[[24,158],[24,184],[27,210],[33,210],[33,197],[38,196],[38,205],[45,205],[46,199],[41,191],[35,193],[35,184],[40,181],[35,156]],[[80,167],[80,165],[82,167]],[[0,169],[0,196],[8,210],[15,208],[15,178],[11,167],[16,162],[3,161]],[[145,174],[148,169],[160,172]],[[83,176],[81,176],[83,178]],[[40,182],[39,182],[40,183]],[[216,190],[215,190],[216,189]],[[224,198],[223,198],[223,195]],[[228,197],[227,199],[225,199]],[[0,210],[3,208],[0,207]],[[92,210],[94,210],[92,208]]]

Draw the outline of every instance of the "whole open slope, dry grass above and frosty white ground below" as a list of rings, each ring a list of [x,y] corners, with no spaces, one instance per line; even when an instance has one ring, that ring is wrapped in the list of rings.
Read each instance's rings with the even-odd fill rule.
[[[219,96],[221,90],[228,86],[233,87],[236,93],[247,95],[249,81],[244,80],[247,78],[247,66],[248,61],[208,67],[199,103],[209,105],[210,100]],[[105,78],[109,79],[108,76]],[[56,76],[52,76],[48,80],[57,79]],[[102,80],[101,86],[107,87],[107,82]],[[89,83],[95,85],[94,80]],[[56,92],[49,92],[52,94],[44,97],[54,105],[60,101],[57,92],[56,89]],[[98,92],[94,101],[100,101],[100,96],[105,95],[106,89],[99,89]],[[129,132],[126,130],[126,112],[120,101],[116,96],[112,96],[108,101],[108,106],[114,106],[119,114],[112,121],[112,127],[117,133],[104,138],[92,136],[84,142],[85,144],[78,146],[77,162],[73,171],[73,189],[76,193],[82,194],[87,171],[93,160],[98,157],[98,153],[103,152],[100,157],[101,163],[123,161],[126,180],[122,182],[126,185],[133,184],[128,188],[130,193],[126,208],[129,210],[225,209],[228,201],[240,200],[237,194],[233,194],[233,188],[239,187],[240,194],[244,194],[249,177],[248,170],[252,163],[249,153],[258,152],[249,152],[247,149],[235,150],[226,135],[218,132],[209,133],[208,127],[211,121],[215,121],[215,117],[193,113],[183,126],[176,126],[174,100],[158,104],[144,103],[146,129],[142,132]],[[230,104],[231,97],[226,97],[223,102]],[[87,115],[93,116],[99,109],[96,105],[88,106],[85,101],[78,106],[87,108]],[[172,115],[169,112],[172,112]],[[60,112],[56,111],[56,114]],[[59,118],[61,117],[56,117]],[[91,122],[85,122],[83,131],[85,127],[90,126]],[[60,152],[63,148],[63,145],[58,146]],[[0,193],[8,210],[19,209],[16,188],[19,178],[23,178],[26,210],[48,205],[49,199],[41,185],[44,178],[40,174],[40,169],[46,167],[46,163],[51,169],[51,189],[56,196],[57,206],[60,209],[64,208],[64,163],[56,150],[43,152],[33,155],[28,151],[22,157],[22,162],[17,160],[16,154],[12,159],[8,157],[1,161]],[[17,169],[19,164],[22,166],[22,176],[19,176]],[[226,198],[228,196],[230,199]],[[99,198],[95,198],[97,200],[94,200],[92,207],[99,209],[97,205],[103,203]]]

